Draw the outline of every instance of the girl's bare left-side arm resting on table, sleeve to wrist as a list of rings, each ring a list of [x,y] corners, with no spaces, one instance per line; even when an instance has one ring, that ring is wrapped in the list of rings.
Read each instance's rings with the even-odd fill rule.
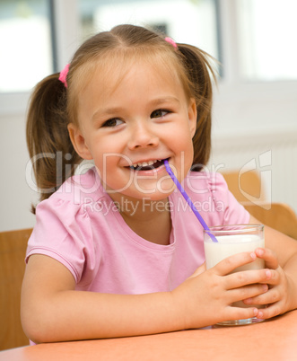
[[[179,330],[170,292],[111,295],[74,291],[57,260],[32,255],[22,284],[22,327],[32,341],[100,339]]]

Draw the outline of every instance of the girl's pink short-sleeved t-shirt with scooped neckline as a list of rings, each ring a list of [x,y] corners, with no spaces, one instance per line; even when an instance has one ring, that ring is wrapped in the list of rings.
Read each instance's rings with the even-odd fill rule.
[[[207,225],[249,223],[249,213],[221,174],[190,172],[183,187]],[[204,262],[205,253],[203,228],[177,189],[168,207],[170,244],[144,240],[125,223],[92,168],[39,203],[26,261],[36,253],[58,260],[77,290],[131,295],[172,290]]]

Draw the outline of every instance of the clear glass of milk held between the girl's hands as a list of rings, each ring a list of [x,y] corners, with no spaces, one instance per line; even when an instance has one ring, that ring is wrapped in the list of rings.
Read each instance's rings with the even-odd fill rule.
[[[217,242],[214,242],[214,237]],[[221,260],[241,252],[255,251],[258,247],[265,247],[264,225],[218,225],[204,231],[206,269],[211,269]],[[264,269],[264,260],[253,262],[235,269],[234,272],[247,269]],[[250,307],[242,301],[232,304],[237,307]],[[258,308],[264,307],[256,305]],[[217,323],[220,326],[237,326],[256,323],[257,317],[245,320],[231,320]]]

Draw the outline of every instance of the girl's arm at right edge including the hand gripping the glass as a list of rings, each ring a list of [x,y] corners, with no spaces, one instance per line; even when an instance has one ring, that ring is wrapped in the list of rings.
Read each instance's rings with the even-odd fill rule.
[[[250,223],[259,224],[251,217]],[[265,249],[258,249],[256,254],[266,261],[266,268],[271,270],[267,281],[268,292],[249,298],[246,304],[266,304],[258,317],[270,318],[277,314],[297,308],[297,241],[284,233],[265,226]]]

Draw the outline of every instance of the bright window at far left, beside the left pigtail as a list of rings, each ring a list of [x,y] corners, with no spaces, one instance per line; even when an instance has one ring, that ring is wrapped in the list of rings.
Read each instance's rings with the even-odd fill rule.
[[[1,0],[0,92],[28,92],[53,72],[47,0]]]

